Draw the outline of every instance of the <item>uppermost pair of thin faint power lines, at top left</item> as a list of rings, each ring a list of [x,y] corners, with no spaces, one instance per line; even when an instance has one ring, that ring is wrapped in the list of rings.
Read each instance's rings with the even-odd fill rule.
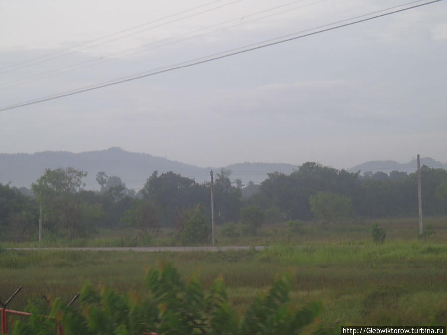
[[[86,43],[86,44],[94,43],[94,42],[103,40],[103,39],[105,39],[105,38],[107,38],[107,37],[115,36],[115,35],[121,34],[121,33],[123,33],[123,32],[129,31],[129,30],[133,30],[133,29],[137,29],[137,28],[142,27],[142,26],[149,25],[149,24],[151,24],[151,23],[159,22],[159,21],[162,21],[162,20],[164,20],[164,19],[166,19],[166,18],[173,17],[173,16],[176,16],[176,15],[180,15],[180,14],[183,14],[183,13],[185,13],[185,12],[188,12],[188,11],[191,11],[191,10],[194,10],[194,9],[197,9],[197,8],[200,8],[200,7],[204,7],[204,6],[210,5],[210,4],[215,3],[215,2],[219,2],[219,1],[222,1],[222,0],[215,0],[215,1],[212,1],[212,2],[207,3],[207,4],[205,4],[205,5],[201,5],[201,6],[198,6],[198,7],[194,7],[194,8],[192,8],[192,9],[187,9],[187,10],[184,10],[184,11],[179,12],[179,13],[176,13],[176,14],[168,15],[168,16],[163,17],[163,18],[161,18],[161,19],[157,19],[157,20],[154,20],[154,21],[151,21],[151,22],[148,22],[148,23],[145,23],[145,24],[142,24],[142,25],[133,27],[133,28],[124,29],[124,30],[122,30],[122,31],[119,31],[119,32],[116,32],[116,33],[107,35],[107,36],[105,36],[105,37],[101,37],[101,38],[96,39],[96,40],[93,40],[93,41],[90,41],[90,42],[88,42],[88,43]],[[22,63],[20,63],[20,64],[24,64],[24,63],[30,63],[30,64],[25,65],[25,66],[23,66],[23,67],[17,67],[17,68],[13,68],[13,69],[10,69],[10,70],[2,71],[2,72],[0,72],[0,74],[13,72],[13,71],[16,71],[16,70],[18,70],[18,69],[22,69],[22,68],[25,68],[25,67],[31,67],[31,66],[33,66],[33,65],[40,64],[40,63],[45,63],[45,62],[48,62],[48,61],[51,61],[51,60],[54,60],[54,59],[57,59],[57,58],[60,58],[60,57],[63,57],[63,56],[71,55],[71,54],[73,54],[73,53],[75,53],[75,52],[79,52],[79,51],[81,51],[81,50],[90,49],[90,48],[92,48],[92,47],[96,47],[96,46],[99,46],[99,45],[103,45],[103,44],[107,44],[107,43],[110,43],[110,42],[114,42],[114,41],[117,41],[117,40],[122,39],[122,38],[126,38],[126,37],[129,37],[129,36],[137,35],[137,34],[140,34],[140,33],[142,33],[142,32],[145,32],[145,31],[148,31],[148,30],[151,30],[151,29],[154,29],[154,28],[159,28],[159,27],[168,25],[168,24],[170,24],[170,23],[178,22],[178,21],[184,20],[184,19],[186,19],[186,18],[191,18],[191,17],[197,16],[197,15],[200,15],[200,14],[203,14],[203,13],[207,13],[207,12],[210,12],[210,11],[213,11],[213,10],[216,10],[216,9],[220,9],[220,8],[225,7],[225,6],[228,6],[228,5],[237,3],[237,2],[241,2],[241,1],[245,1],[245,0],[235,0],[235,1],[232,1],[232,2],[229,2],[229,3],[226,3],[226,4],[223,4],[223,5],[220,5],[220,6],[217,6],[217,7],[213,7],[213,8],[210,8],[210,9],[203,10],[203,11],[198,12],[198,13],[194,13],[194,14],[191,14],[191,15],[183,16],[183,17],[181,17],[181,18],[178,18],[178,19],[175,19],[175,20],[172,20],[172,21],[169,21],[169,22],[161,23],[161,24],[158,24],[158,25],[156,25],[156,26],[149,27],[149,28],[146,28],[146,29],[137,31],[137,32],[133,32],[133,33],[130,33],[130,34],[127,34],[127,35],[124,35],[124,36],[116,37],[116,38],[113,38],[113,39],[111,39],[111,40],[107,40],[107,41],[104,41],[104,42],[96,43],[96,44],[93,44],[93,45],[87,45],[87,46],[85,46],[85,47],[83,47],[83,48],[81,48],[81,49],[72,50],[72,48],[67,48],[67,49],[64,49],[64,50],[61,50],[61,51],[53,52],[53,53],[50,53],[50,54],[47,54],[47,55],[38,57],[38,58],[36,58],[36,59],[41,59],[41,58],[45,58],[45,57],[47,57],[47,56],[54,55],[54,54],[56,54],[56,53],[61,53],[61,52],[63,52],[63,51],[72,50],[72,51],[69,51],[69,52],[64,53],[64,54],[62,54],[62,55],[54,56],[54,57],[51,57],[51,58],[46,58],[46,59],[44,59],[44,60],[37,61],[37,62],[34,62],[34,63],[30,63],[30,62],[32,62],[32,60],[31,60],[31,61],[22,62]],[[79,45],[77,45],[77,46],[82,46],[82,45],[85,45],[85,44],[79,44]],[[11,66],[11,67],[12,67],[12,66]],[[9,68],[9,67],[3,67],[3,68],[1,68],[1,69],[5,69],[5,68]],[[0,69],[0,70],[1,70],[1,69]]]

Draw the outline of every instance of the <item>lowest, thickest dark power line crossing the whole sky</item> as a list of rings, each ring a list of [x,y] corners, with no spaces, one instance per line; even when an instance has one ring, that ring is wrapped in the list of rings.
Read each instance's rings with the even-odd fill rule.
[[[199,61],[190,60],[190,61],[181,63],[181,65],[173,65],[171,67],[166,67],[164,69],[150,71],[149,73],[148,72],[143,72],[143,73],[135,74],[133,76],[128,76],[128,77],[123,78],[123,79],[111,80],[109,82],[105,82],[105,83],[102,83],[102,84],[99,84],[99,85],[95,85],[95,86],[84,87],[84,88],[80,88],[80,89],[77,89],[77,90],[74,90],[74,91],[70,91],[70,92],[60,93],[60,94],[49,96],[49,97],[45,97],[45,98],[40,98],[40,99],[36,99],[36,100],[24,102],[24,103],[10,105],[8,107],[1,108],[0,111],[5,111],[5,110],[13,109],[13,108],[24,107],[24,106],[33,105],[33,104],[37,104],[37,103],[41,103],[41,102],[45,102],[45,101],[49,101],[49,100],[55,100],[55,99],[59,99],[59,98],[63,98],[63,97],[67,97],[67,96],[71,96],[71,95],[75,95],[75,94],[79,94],[79,93],[93,91],[93,90],[97,90],[97,89],[100,89],[100,88],[113,86],[113,85],[129,82],[129,81],[133,81],[133,80],[137,80],[137,79],[153,76],[153,75],[156,75],[156,74],[161,74],[161,73],[170,72],[170,71],[173,71],[173,70],[178,70],[178,69],[185,68],[185,67],[192,67],[192,66],[195,66],[195,65],[208,63],[208,62],[219,60],[219,59],[223,59],[223,58],[226,58],[226,57],[239,55],[239,54],[246,53],[246,52],[249,52],[249,51],[270,47],[270,46],[277,45],[277,44],[280,44],[280,43],[290,42],[290,41],[293,41],[293,40],[297,40],[299,38],[312,36],[312,35],[320,34],[320,33],[323,33],[323,32],[327,32],[327,31],[331,31],[331,30],[335,30],[335,29],[351,26],[351,25],[354,25],[354,24],[357,24],[357,23],[370,21],[370,20],[373,20],[373,19],[376,19],[376,18],[379,18],[379,17],[388,16],[388,15],[391,15],[391,14],[403,12],[403,11],[406,11],[406,10],[409,10],[409,9],[422,7],[422,6],[425,6],[425,5],[428,5],[428,4],[432,4],[432,3],[436,3],[436,2],[440,2],[440,1],[443,1],[443,0],[433,0],[433,1],[426,2],[426,3],[422,3],[422,4],[418,4],[418,5],[414,5],[414,6],[410,6],[410,7],[406,7],[406,8],[402,8],[402,9],[398,9],[398,10],[394,10],[394,11],[391,11],[391,12],[388,12],[388,13],[375,15],[375,16],[368,17],[368,18],[365,18],[365,19],[356,20],[356,21],[353,21],[353,22],[337,25],[337,26],[334,26],[334,27],[331,27],[331,28],[321,29],[321,30],[318,30],[318,31],[315,31],[315,32],[311,32],[311,33],[307,33],[307,34],[303,34],[303,35],[298,35],[298,36],[295,36],[295,37],[284,38],[285,36],[293,35],[293,34],[289,34],[289,35],[285,35],[285,36],[279,37],[279,38],[283,38],[283,39],[281,39],[279,41],[265,43],[265,44],[261,44],[261,45],[254,46],[254,47],[241,47],[239,49],[242,49],[242,50],[234,51],[234,52],[229,52],[229,51],[222,52],[222,53],[220,53],[221,55],[219,55],[219,56],[212,57],[213,55],[209,55],[209,56],[207,56],[208,58],[204,57],[205,59],[202,59],[202,60],[199,60]],[[277,38],[277,39],[279,39],[279,38]],[[263,43],[263,42],[260,42],[260,43]]]

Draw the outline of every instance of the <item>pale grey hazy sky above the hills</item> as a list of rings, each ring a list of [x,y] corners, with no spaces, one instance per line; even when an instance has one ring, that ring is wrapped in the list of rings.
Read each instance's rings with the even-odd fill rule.
[[[2,0],[0,108],[408,2]],[[337,168],[420,153],[446,163],[446,13],[441,1],[1,111],[0,152],[119,146],[199,166]]]

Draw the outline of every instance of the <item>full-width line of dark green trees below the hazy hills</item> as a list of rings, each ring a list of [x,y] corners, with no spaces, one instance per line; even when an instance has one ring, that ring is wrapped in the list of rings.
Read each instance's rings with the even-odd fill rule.
[[[170,227],[187,242],[209,238],[210,183],[174,172],[154,171],[136,193],[118,176],[96,175],[99,191],[88,191],[86,172],[47,169],[31,190],[0,184],[0,240],[35,240],[39,219],[44,235],[68,239],[98,227],[129,225],[142,232]],[[222,169],[214,181],[217,224],[242,222],[252,232],[262,223],[318,220],[322,224],[352,217],[380,218],[417,215],[417,174],[392,171],[360,175],[314,162],[291,174],[269,173],[260,186],[249,183],[249,196],[231,172]],[[421,168],[423,212],[447,214],[447,171]],[[198,228],[202,227],[202,228]],[[197,228],[197,229],[196,229]],[[189,233],[187,233],[189,231]]]

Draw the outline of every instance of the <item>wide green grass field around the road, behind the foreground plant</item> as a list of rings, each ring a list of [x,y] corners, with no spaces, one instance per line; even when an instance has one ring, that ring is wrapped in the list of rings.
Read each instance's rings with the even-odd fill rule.
[[[23,285],[8,307],[22,310],[30,297],[43,294],[68,302],[85,281],[145,295],[145,271],[163,259],[186,278],[198,273],[205,287],[222,273],[237,310],[246,309],[279,273],[290,270],[295,275],[292,296],[302,303],[322,301],[325,310],[320,321],[325,324],[446,325],[447,218],[425,220],[433,234],[421,240],[417,220],[378,223],[387,230],[384,244],[373,243],[371,222],[357,222],[325,227],[306,223],[298,231],[285,225],[267,226],[257,236],[233,239],[218,235],[220,245],[269,245],[263,251],[3,250],[0,299],[6,300]],[[108,237],[77,243],[104,246],[109,241],[113,245],[119,237],[108,233]],[[154,244],[168,237],[160,232]]]

